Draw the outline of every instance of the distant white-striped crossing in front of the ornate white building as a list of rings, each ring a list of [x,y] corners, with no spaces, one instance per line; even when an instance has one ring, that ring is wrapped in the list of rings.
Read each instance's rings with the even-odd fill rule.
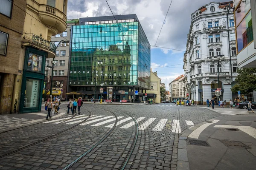
[[[198,108],[205,108],[205,107],[198,107]],[[220,114],[223,114],[223,115],[243,115],[243,114],[249,114],[247,112],[247,110],[245,109],[237,109],[237,108],[218,108],[218,106],[214,109],[212,108],[206,108],[206,109],[209,109],[211,111],[215,111],[217,113],[220,113]]]

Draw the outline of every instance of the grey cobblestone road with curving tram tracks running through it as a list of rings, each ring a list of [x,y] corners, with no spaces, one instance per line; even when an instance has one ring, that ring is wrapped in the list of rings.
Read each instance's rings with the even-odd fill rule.
[[[134,117],[139,126],[138,137],[125,169],[174,170],[177,165],[178,134],[195,124],[220,116],[204,108],[170,105],[84,105],[81,108],[86,115],[88,111],[93,115],[85,122],[82,121],[88,116],[68,115],[1,133],[0,169],[63,169],[101,141],[113,128],[102,143],[70,169],[117,170],[136,141]],[[114,114],[118,116],[117,120]],[[73,128],[65,130],[70,127]],[[63,133],[52,136],[63,130]],[[4,138],[7,136],[14,139],[8,138],[10,141],[6,141]],[[49,136],[52,137],[40,142]],[[38,143],[33,144],[35,142]],[[24,146],[28,147],[4,156]]]

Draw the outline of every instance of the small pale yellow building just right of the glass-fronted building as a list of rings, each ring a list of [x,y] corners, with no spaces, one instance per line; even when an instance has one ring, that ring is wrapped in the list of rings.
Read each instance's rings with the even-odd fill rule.
[[[150,71],[150,91],[148,91],[148,98],[153,99],[154,103],[160,103],[160,81],[161,79],[157,77],[157,72]]]

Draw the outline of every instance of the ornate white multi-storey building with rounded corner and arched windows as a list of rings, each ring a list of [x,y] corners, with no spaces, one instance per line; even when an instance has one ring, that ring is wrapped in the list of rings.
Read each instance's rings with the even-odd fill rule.
[[[230,100],[231,86],[237,76],[236,35],[234,16],[225,6],[233,2],[211,2],[191,14],[191,25],[184,54],[185,93],[197,104],[206,104],[207,99]],[[228,15],[227,15],[228,14]],[[219,60],[218,56],[224,55]],[[218,83],[219,68],[219,83]],[[221,96],[214,92],[221,88]]]

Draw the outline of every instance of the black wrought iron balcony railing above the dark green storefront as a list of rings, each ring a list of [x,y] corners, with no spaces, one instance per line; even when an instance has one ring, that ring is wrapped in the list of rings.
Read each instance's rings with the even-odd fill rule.
[[[52,51],[53,53],[56,53],[56,45],[42,37],[39,37],[35,34],[32,36],[32,43],[37,45],[38,47],[42,47],[44,49],[47,49],[49,51]]]

